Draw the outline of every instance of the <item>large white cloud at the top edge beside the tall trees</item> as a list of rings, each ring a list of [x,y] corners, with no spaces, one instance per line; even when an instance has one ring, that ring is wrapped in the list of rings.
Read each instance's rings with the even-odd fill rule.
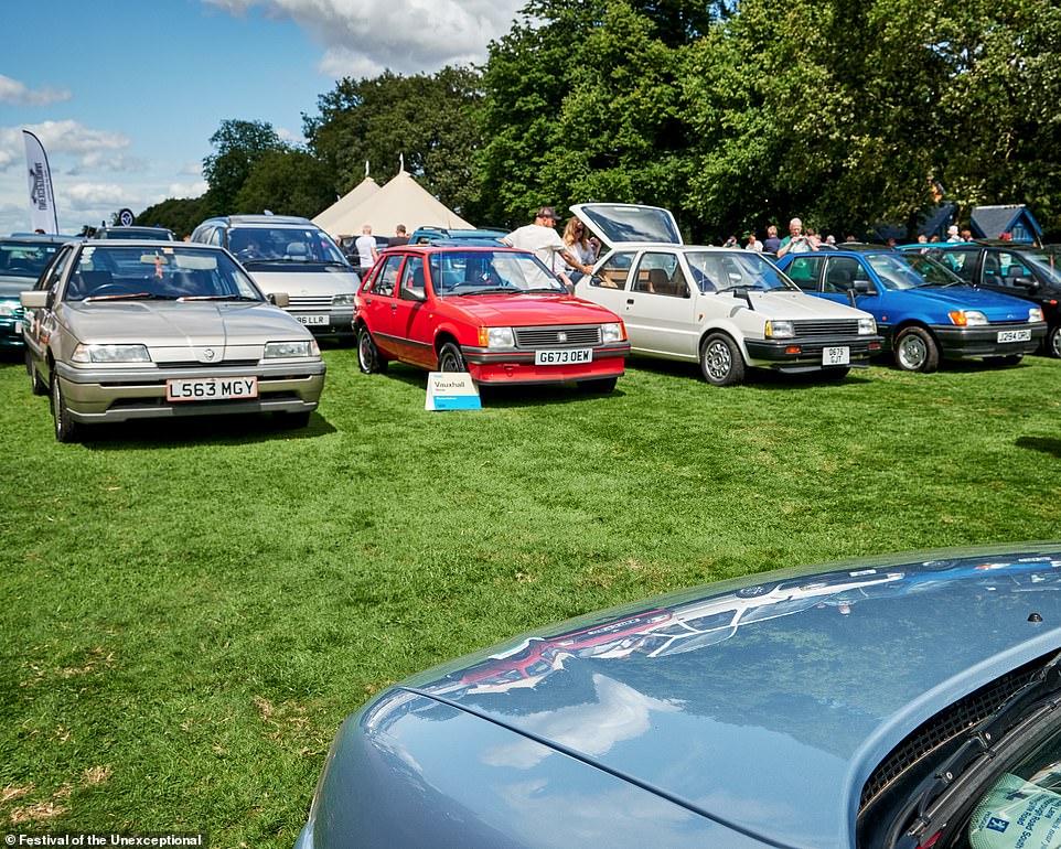
[[[291,20],[324,49],[320,71],[372,77],[481,63],[525,0],[203,0],[231,14],[261,9]]]

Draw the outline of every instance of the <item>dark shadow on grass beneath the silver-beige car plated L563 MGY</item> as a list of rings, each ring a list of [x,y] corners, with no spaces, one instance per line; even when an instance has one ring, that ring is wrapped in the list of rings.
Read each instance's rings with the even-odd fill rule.
[[[234,445],[255,442],[314,439],[335,428],[314,412],[304,428],[285,427],[271,415],[196,416],[178,419],[141,419],[85,429],[82,444],[93,451],[178,445]]]

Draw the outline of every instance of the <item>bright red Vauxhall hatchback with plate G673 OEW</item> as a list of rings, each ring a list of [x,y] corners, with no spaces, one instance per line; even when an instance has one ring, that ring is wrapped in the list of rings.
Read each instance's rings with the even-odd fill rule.
[[[487,385],[611,391],[630,352],[619,316],[568,294],[532,254],[512,248],[384,251],[354,299],[354,330],[366,374],[397,359]]]

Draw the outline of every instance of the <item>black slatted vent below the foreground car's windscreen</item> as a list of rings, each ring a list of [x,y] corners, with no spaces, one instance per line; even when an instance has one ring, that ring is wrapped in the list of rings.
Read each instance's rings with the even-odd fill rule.
[[[1049,657],[1032,660],[1007,673],[965,698],[958,699],[914,729],[874,770],[872,775],[862,786],[859,810],[862,810],[923,757],[992,716],[1010,696],[1028,684],[1042,669],[1043,663],[1052,656],[1051,653]]]

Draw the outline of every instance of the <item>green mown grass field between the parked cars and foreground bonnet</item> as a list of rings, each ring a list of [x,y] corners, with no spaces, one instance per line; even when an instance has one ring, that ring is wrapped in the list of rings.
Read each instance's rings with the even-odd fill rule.
[[[615,394],[424,411],[325,352],[302,431],[60,445],[0,363],[0,823],[290,847],[332,734],[387,684],[668,589],[1061,537],[1061,362],[843,383],[632,361]]]

